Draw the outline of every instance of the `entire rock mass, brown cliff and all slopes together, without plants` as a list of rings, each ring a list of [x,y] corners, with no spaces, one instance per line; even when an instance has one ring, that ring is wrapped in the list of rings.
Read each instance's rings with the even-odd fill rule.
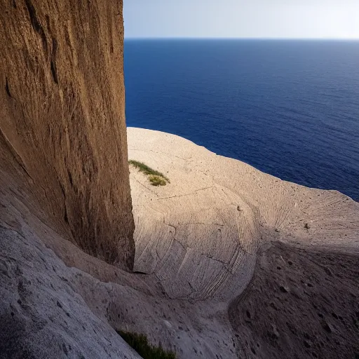
[[[358,203],[135,128],[129,180],[121,1],[0,4],[0,358],[358,356]]]

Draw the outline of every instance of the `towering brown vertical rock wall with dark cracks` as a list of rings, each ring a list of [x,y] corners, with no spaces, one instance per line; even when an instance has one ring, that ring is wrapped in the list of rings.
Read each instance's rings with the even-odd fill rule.
[[[0,10],[2,196],[31,197],[64,238],[132,269],[122,1],[1,0]]]

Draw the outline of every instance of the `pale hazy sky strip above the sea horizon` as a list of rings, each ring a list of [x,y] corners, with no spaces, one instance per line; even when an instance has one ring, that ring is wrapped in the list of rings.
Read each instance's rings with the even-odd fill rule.
[[[123,0],[125,36],[359,39],[359,0]]]

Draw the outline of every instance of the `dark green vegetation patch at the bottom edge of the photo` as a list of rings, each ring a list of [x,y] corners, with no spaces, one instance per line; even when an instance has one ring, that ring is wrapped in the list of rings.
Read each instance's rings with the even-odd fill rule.
[[[173,351],[165,351],[161,344],[159,346],[151,346],[144,334],[132,332],[123,332],[117,330],[117,333],[127,342],[129,346],[135,349],[143,359],[176,359]]]

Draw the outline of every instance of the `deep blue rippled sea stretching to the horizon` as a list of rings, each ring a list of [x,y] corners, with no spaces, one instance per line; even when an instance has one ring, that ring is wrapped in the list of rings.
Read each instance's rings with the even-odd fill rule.
[[[126,40],[128,126],[359,201],[359,41]]]

